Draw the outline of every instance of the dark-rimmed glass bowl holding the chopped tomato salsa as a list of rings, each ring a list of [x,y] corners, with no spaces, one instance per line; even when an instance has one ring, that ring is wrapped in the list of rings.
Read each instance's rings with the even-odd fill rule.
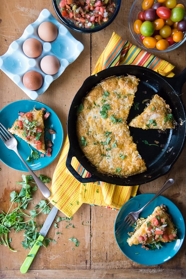
[[[63,0],[63,1],[65,1],[65,0]],[[107,1],[107,0],[105,0],[105,1]],[[74,24],[73,20],[70,20],[69,18],[67,19],[64,16],[62,16],[61,8],[59,7],[59,4],[60,4],[61,0],[52,0],[52,3],[53,3],[53,6],[54,6],[54,9],[55,9],[55,12],[56,12],[57,16],[64,23],[64,25],[66,25],[67,27],[69,27],[70,29],[72,29],[74,31],[77,31],[77,32],[80,32],[80,33],[89,33],[90,34],[90,33],[98,32],[98,31],[104,29],[105,27],[110,25],[113,22],[113,20],[116,18],[117,14],[119,12],[120,6],[121,6],[121,0],[108,0],[108,3],[109,3],[109,1],[111,3],[115,4],[115,8],[114,8],[114,11],[112,13],[108,12],[108,20],[105,21],[105,22],[101,21],[101,24],[98,24],[98,23],[95,22],[94,27],[89,26],[88,28],[79,27],[77,22]],[[96,1],[96,2],[99,2],[99,1]],[[108,6],[108,3],[105,4],[105,5]],[[95,8],[97,8],[97,7],[95,7]],[[113,7],[111,7],[111,9],[113,9]],[[108,8],[106,9],[106,12],[107,11],[108,11]],[[99,11],[97,11],[97,14],[98,13],[99,13]]]

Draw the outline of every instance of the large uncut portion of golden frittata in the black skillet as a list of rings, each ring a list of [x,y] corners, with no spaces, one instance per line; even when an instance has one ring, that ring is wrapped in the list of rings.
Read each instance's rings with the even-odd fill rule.
[[[126,123],[138,81],[130,75],[106,79],[82,101],[78,141],[100,173],[128,177],[146,170]]]

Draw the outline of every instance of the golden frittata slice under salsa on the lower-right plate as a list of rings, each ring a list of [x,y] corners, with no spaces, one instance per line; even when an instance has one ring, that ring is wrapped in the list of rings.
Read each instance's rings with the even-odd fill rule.
[[[166,236],[170,236],[170,235],[175,235],[176,234],[176,229],[174,227],[174,224],[172,223],[172,221],[169,218],[169,215],[166,213],[166,211],[160,207],[157,206],[153,213],[151,215],[149,215],[146,219],[142,220],[142,224],[139,225],[139,227],[137,226],[137,228],[135,228],[135,232],[132,234],[131,237],[129,237],[127,239],[127,242],[129,244],[129,246],[132,245],[138,245],[140,243],[139,241],[139,236],[147,236],[147,240],[145,241],[145,243],[143,244],[151,244],[153,242],[158,242],[158,241],[162,241],[162,242],[170,242],[174,239],[170,239],[169,237],[163,238],[163,236],[161,237],[157,237],[157,239],[155,239],[155,235],[152,234],[152,232],[150,230],[148,230],[149,225],[152,226],[152,219],[156,218],[157,216],[160,217],[160,220],[164,220],[167,224],[166,227],[162,227],[162,230],[164,230],[165,232],[163,232],[163,235],[166,234]],[[159,221],[160,222],[160,221]],[[152,226],[153,228],[153,226]],[[161,226],[160,226],[161,228]]]

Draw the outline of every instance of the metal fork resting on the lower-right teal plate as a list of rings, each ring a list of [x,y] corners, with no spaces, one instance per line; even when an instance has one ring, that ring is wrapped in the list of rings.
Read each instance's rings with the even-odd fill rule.
[[[121,230],[126,230],[129,227],[131,227],[135,221],[138,219],[139,217],[139,213],[145,208],[147,207],[147,205],[149,205],[154,199],[157,198],[157,196],[161,195],[165,190],[167,190],[170,186],[172,186],[174,184],[174,179],[170,178],[169,180],[167,180],[162,188],[157,192],[157,194],[146,204],[144,205],[141,209],[139,209],[138,211],[132,211],[130,212],[123,221],[121,221],[121,223],[119,224],[119,226],[116,229],[116,234],[119,234],[121,232]]]

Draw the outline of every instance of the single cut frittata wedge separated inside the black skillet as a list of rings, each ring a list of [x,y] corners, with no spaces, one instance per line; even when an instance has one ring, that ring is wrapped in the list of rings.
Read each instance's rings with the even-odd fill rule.
[[[144,111],[131,120],[129,126],[142,129],[172,129],[175,127],[174,119],[169,105],[154,95],[150,105]]]

